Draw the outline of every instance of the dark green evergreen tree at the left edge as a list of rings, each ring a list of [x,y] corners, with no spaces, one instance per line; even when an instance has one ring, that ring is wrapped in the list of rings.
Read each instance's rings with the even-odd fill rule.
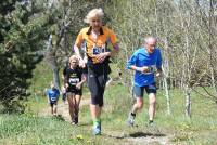
[[[0,4],[11,6],[1,9],[0,15],[0,104],[3,111],[23,111],[21,101],[29,95],[26,89],[30,84],[26,79],[33,77],[31,70],[42,58],[49,16],[36,11],[37,5],[11,2]]]

